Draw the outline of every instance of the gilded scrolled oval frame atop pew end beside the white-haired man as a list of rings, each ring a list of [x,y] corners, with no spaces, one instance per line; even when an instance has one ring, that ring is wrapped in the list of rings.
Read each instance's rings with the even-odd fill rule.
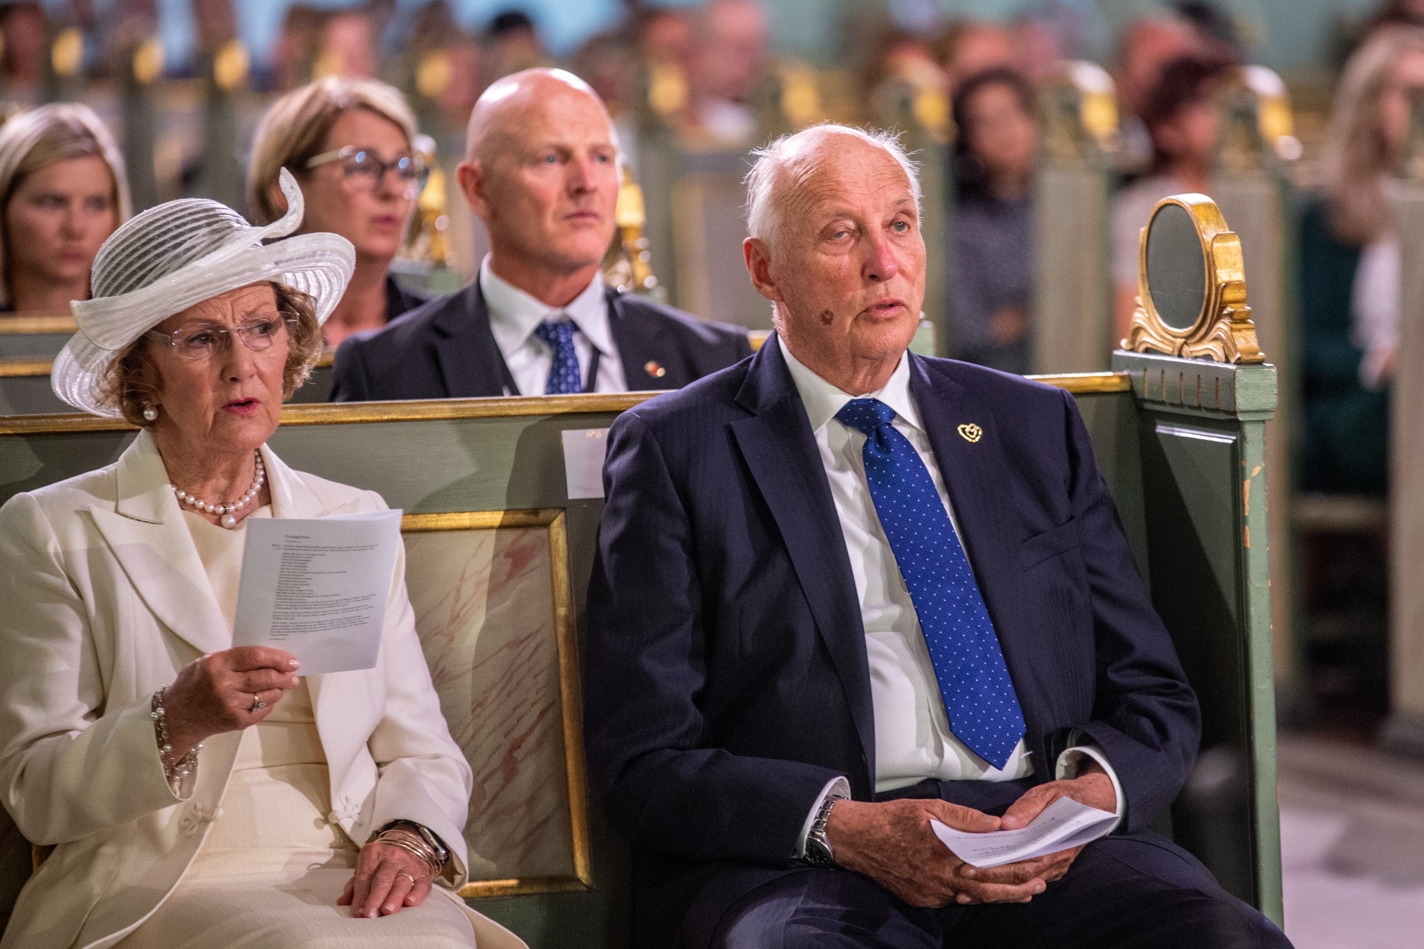
[[[1186,211],[1196,225],[1206,266],[1206,295],[1202,312],[1192,326],[1179,330],[1168,326],[1156,312],[1148,286],[1148,232],[1166,205]],[[1220,208],[1206,195],[1172,195],[1152,209],[1148,226],[1138,238],[1138,302],[1122,349],[1134,353],[1165,353],[1183,359],[1210,359],[1218,363],[1265,363],[1256,340],[1256,324],[1246,304],[1246,263],[1242,242],[1227,230]]]

